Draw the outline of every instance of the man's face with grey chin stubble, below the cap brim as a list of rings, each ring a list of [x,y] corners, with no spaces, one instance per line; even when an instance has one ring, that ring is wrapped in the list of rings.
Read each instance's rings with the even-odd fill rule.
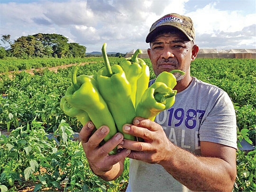
[[[192,47],[192,41],[189,41],[181,33],[168,33],[156,37],[148,49],[155,75],[174,69],[182,70],[190,75],[190,63],[193,60]],[[178,78],[177,81],[180,81],[179,78],[183,78],[183,76],[176,78]]]

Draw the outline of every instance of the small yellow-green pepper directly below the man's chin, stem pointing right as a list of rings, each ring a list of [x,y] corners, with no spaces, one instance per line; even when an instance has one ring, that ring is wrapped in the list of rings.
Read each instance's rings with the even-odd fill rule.
[[[185,74],[185,72],[178,69],[174,69],[170,72],[164,71],[156,77],[155,82],[164,82],[168,87],[174,89],[177,81],[173,73],[181,73],[182,75]]]

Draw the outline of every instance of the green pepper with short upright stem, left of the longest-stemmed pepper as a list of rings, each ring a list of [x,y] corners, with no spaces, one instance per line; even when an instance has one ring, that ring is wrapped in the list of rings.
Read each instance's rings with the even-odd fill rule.
[[[106,102],[98,91],[98,84],[89,75],[76,77],[78,67],[72,71],[72,85],[66,90],[65,100],[74,108],[84,110],[98,129],[102,125],[110,128],[109,134],[104,138],[108,141],[117,133],[115,121],[108,109]]]

